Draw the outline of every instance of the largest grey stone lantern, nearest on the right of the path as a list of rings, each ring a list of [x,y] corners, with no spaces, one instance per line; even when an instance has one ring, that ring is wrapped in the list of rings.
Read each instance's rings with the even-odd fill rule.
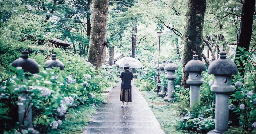
[[[228,100],[229,94],[235,90],[231,82],[232,75],[237,74],[237,66],[226,57],[226,52],[221,51],[220,58],[214,60],[208,67],[208,73],[215,76],[211,91],[216,93],[216,102],[215,129],[207,134],[222,134],[228,131]]]

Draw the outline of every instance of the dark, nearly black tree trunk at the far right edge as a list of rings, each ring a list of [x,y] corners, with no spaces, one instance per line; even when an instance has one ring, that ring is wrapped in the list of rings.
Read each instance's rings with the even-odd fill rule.
[[[244,0],[236,51],[238,51],[239,46],[244,47],[246,51],[249,50],[251,35],[252,35],[252,23],[253,23],[254,11],[255,11],[255,0]],[[240,61],[240,59],[237,59],[237,60]],[[247,59],[244,59],[244,60],[247,60]],[[245,67],[242,61],[240,61],[240,66],[242,66],[242,68]],[[241,72],[241,76],[244,75],[245,73],[245,69],[240,69],[238,71]]]

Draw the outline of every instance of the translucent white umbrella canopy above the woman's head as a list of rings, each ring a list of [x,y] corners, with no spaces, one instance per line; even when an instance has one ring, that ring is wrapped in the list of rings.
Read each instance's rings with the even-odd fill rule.
[[[132,57],[123,57],[116,61],[116,64],[123,67],[130,67],[130,68],[141,68],[143,65],[138,59]]]

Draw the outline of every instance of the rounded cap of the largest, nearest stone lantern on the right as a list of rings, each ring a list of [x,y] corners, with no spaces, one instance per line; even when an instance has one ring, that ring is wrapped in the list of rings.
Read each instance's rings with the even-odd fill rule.
[[[225,51],[220,52],[220,58],[214,60],[208,67],[208,73],[214,75],[233,75],[237,74],[236,64],[227,59]]]

